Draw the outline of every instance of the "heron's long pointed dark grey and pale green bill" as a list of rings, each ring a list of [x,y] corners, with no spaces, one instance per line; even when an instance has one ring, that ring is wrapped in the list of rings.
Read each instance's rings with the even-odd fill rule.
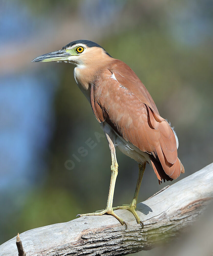
[[[32,62],[48,62],[48,61],[66,61],[68,57],[71,56],[66,50],[62,49],[59,51],[50,52],[44,55],[41,55]]]

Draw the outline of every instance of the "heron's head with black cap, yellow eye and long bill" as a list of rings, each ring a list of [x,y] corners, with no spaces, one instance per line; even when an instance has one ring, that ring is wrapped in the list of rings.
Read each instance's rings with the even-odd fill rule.
[[[87,65],[88,63],[97,62],[109,57],[111,56],[100,45],[88,40],[77,40],[64,46],[59,51],[41,55],[32,60],[32,62],[63,61],[78,66]]]

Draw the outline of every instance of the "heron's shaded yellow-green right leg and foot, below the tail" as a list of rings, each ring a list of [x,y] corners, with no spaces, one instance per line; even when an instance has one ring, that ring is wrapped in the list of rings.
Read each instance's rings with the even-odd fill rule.
[[[138,166],[139,166],[138,180],[137,180],[137,184],[136,184],[136,188],[134,191],[134,197],[133,197],[132,202],[129,205],[113,207],[113,210],[126,209],[126,210],[130,211],[136,218],[137,223],[138,224],[140,223],[141,226],[143,227],[143,222],[140,220],[135,208],[136,208],[136,204],[137,204],[137,200],[138,200],[138,194],[139,194],[139,190],[140,190],[140,186],[141,186],[141,181],[142,181],[143,174],[144,174],[145,167],[146,167],[146,162],[143,164],[139,164]]]

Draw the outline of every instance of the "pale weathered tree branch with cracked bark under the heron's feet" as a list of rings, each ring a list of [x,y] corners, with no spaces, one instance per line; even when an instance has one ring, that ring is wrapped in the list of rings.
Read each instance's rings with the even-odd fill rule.
[[[20,234],[27,256],[124,255],[175,239],[213,198],[213,163],[167,186],[137,205],[142,229],[127,210],[116,210],[128,225],[111,216],[85,216]],[[0,246],[1,256],[17,255],[16,238]]]

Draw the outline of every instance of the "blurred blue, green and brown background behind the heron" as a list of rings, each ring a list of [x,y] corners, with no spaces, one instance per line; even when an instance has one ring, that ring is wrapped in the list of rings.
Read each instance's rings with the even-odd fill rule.
[[[0,244],[17,232],[105,207],[110,152],[105,138],[96,138],[103,131],[75,84],[74,67],[31,63],[71,41],[95,41],[136,72],[175,126],[185,167],[180,178],[212,162],[212,5],[1,1]],[[87,140],[96,143],[93,149]],[[88,150],[85,157],[79,147]],[[131,201],[138,175],[136,162],[118,151],[117,158],[114,206]],[[139,201],[163,186],[147,167]]]

